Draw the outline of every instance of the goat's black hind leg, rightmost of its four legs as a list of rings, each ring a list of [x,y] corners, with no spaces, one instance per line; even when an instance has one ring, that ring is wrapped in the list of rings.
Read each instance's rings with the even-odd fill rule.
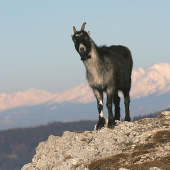
[[[129,111],[129,103],[130,103],[130,96],[129,96],[129,91],[123,91],[123,95],[124,95],[124,104],[125,104],[125,112],[126,112],[126,116],[125,116],[125,121],[130,122],[131,118],[130,118],[130,111]]]

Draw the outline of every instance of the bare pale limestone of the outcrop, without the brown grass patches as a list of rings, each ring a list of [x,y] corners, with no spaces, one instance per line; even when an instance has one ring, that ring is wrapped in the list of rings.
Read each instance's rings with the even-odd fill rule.
[[[89,170],[89,164],[94,160],[120,153],[133,153],[136,146],[151,142],[156,132],[170,130],[170,112],[162,112],[155,119],[116,123],[113,129],[104,127],[98,131],[65,131],[62,137],[51,135],[38,145],[32,162],[24,165],[22,170]],[[169,153],[170,143],[166,143],[155,148],[153,155],[147,153],[140,156],[136,163],[161,158]],[[128,164],[130,160],[127,160]],[[122,165],[119,170],[128,169]],[[161,169],[158,165],[148,170]]]

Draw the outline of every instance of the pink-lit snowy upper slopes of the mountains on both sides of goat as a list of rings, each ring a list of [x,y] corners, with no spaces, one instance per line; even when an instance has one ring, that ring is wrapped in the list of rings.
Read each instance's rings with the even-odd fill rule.
[[[170,91],[170,64],[161,63],[152,67],[134,69],[132,73],[131,98],[138,99],[157,92],[158,95]],[[89,103],[94,101],[92,90],[87,82],[61,93],[51,94],[44,90],[30,89],[14,94],[0,94],[0,111],[24,105],[37,105],[74,102]]]

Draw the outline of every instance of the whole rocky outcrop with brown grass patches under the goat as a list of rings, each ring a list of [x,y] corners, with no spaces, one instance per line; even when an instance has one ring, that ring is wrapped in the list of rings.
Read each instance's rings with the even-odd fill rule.
[[[113,129],[49,136],[22,170],[170,169],[170,112]]]

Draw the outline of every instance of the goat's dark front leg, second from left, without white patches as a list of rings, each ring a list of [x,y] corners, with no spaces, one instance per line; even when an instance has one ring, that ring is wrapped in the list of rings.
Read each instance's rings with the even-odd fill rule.
[[[113,102],[113,97],[114,97],[114,92],[111,90],[107,90],[107,109],[108,109],[108,128],[113,128],[115,126],[115,119],[113,117],[113,112],[112,112],[112,102]]]

